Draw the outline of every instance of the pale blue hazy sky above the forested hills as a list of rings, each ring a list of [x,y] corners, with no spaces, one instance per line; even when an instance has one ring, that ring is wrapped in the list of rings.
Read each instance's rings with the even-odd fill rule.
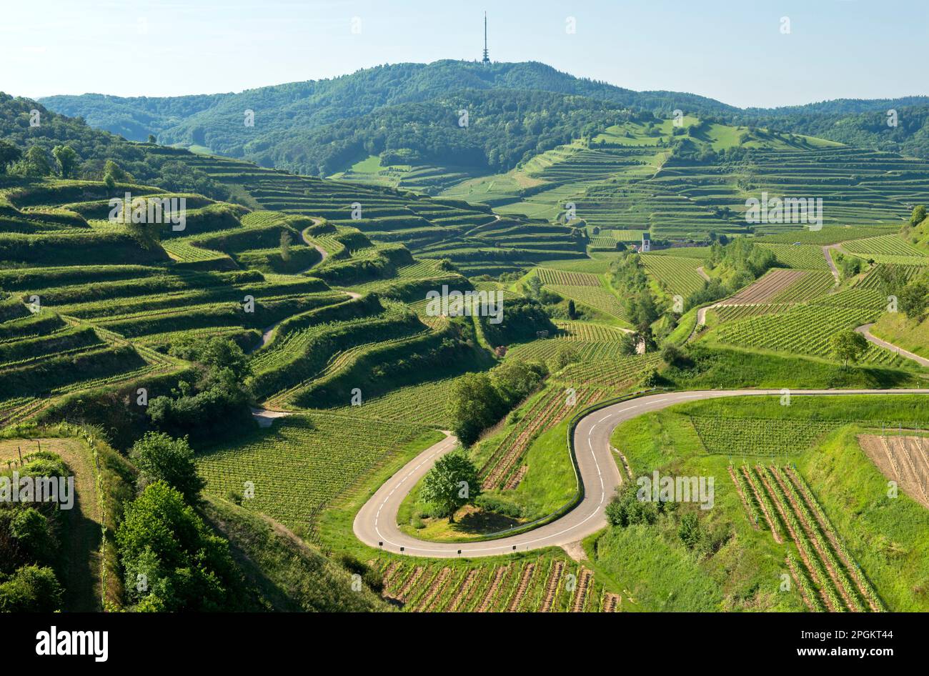
[[[5,0],[0,91],[212,94],[480,58],[485,9],[491,59],[635,90],[765,108],[929,95],[927,0]]]

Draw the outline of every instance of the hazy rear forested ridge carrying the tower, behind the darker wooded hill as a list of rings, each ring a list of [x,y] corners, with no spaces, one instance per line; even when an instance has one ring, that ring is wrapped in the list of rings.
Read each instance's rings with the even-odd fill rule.
[[[382,106],[427,101],[464,89],[548,91],[667,113],[682,107],[694,112],[735,110],[712,98],[675,92],[635,92],[577,78],[534,61],[490,65],[456,60],[399,63],[329,80],[276,84],[239,94],[126,98],[85,94],[40,100],[52,110],[83,117],[95,127],[130,140],[144,140],[155,134],[163,143],[176,143],[192,142],[199,130],[207,134],[207,130],[225,127],[227,117],[238,123],[235,131],[242,133],[242,139],[254,138],[254,134],[244,136],[241,120],[246,109],[255,110],[256,128],[252,132],[267,133],[277,125],[312,129]],[[271,114],[275,119],[269,119]],[[266,126],[263,128],[261,123]],[[214,139],[210,136],[209,140]],[[245,142],[242,140],[241,145]]]

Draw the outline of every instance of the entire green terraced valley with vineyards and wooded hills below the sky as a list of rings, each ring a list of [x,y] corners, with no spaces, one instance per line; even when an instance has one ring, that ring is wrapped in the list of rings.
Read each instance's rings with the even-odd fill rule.
[[[94,573],[35,607],[929,609],[929,160],[437,64],[253,94],[300,122],[248,141],[241,95],[0,97],[0,461],[105,459]],[[637,499],[656,472],[714,506]],[[188,539],[146,550],[159,519]],[[72,585],[11,561],[0,604]]]

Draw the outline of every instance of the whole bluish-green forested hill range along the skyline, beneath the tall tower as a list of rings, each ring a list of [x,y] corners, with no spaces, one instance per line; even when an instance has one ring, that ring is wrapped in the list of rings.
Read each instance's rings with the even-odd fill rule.
[[[720,122],[819,136],[859,148],[929,157],[929,97],[835,99],[776,109],[738,109],[712,98],[635,92],[538,62],[441,60],[378,66],[336,77],[187,97],[100,94],[41,99],[130,140],[210,150],[313,176],[329,176],[384,151],[387,164],[506,171],[623,115],[674,110]],[[246,111],[254,126],[246,125]],[[460,114],[468,110],[468,134]],[[896,110],[896,126],[887,111]],[[605,124],[605,122],[607,122]]]

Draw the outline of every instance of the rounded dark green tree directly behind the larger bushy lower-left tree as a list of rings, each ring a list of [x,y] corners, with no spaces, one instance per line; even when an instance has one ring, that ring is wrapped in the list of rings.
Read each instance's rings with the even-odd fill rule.
[[[174,439],[164,433],[148,432],[129,452],[138,468],[137,486],[144,489],[156,481],[176,488],[190,504],[200,500],[205,485],[197,474],[193,451],[187,438]]]

